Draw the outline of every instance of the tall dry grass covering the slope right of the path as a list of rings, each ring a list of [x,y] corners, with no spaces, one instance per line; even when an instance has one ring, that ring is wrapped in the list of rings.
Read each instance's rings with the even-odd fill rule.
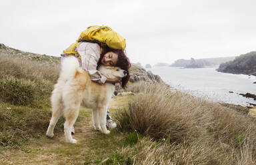
[[[141,84],[133,84],[141,94],[115,115],[120,130],[161,143],[141,144],[148,152],[141,153],[143,160],[135,156],[138,164],[256,164],[252,118],[161,84]],[[166,158],[156,157],[162,154]]]

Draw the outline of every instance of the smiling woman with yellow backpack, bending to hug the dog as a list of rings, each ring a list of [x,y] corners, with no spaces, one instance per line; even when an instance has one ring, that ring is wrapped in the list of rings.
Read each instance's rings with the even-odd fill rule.
[[[91,30],[93,33],[90,33],[91,28],[94,28]],[[106,33],[106,35],[101,36],[99,35],[101,33],[97,33],[98,31],[111,31],[111,33]],[[111,42],[101,43],[101,41],[97,41],[95,39],[95,35],[93,35],[95,33],[97,33],[97,37],[99,39],[105,39],[107,37],[106,41]],[[88,39],[92,39],[93,41],[88,41]],[[63,61],[65,57],[74,55],[77,57],[80,67],[89,73],[91,81],[99,84],[120,83],[121,87],[125,88],[125,85],[128,83],[130,78],[129,68],[131,67],[131,64],[125,55],[125,52],[123,51],[126,45],[125,39],[123,39],[123,37],[120,37],[120,39],[117,37],[117,33],[112,31],[112,29],[109,27],[88,27],[86,31],[81,33],[77,43],[73,43],[68,49],[63,51],[63,54],[61,55],[61,61]],[[118,49],[111,49],[107,45],[117,47]],[[127,76],[123,78],[117,77],[115,79],[107,79],[107,77],[98,71],[98,68],[101,65],[108,67],[119,67],[125,71]],[[115,126],[117,125],[111,119],[109,110],[107,108],[107,127],[115,128]]]

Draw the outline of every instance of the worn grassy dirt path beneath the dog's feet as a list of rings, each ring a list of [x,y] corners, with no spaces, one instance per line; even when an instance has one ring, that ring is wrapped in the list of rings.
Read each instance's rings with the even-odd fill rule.
[[[123,99],[113,98],[109,108],[125,104]],[[91,123],[90,109],[81,108],[79,117],[73,135],[77,144],[66,143],[63,131],[55,133],[53,138],[41,136],[29,140],[30,144],[25,150],[3,151],[0,164],[99,164],[120,146],[123,136],[116,129],[108,135],[96,132]]]

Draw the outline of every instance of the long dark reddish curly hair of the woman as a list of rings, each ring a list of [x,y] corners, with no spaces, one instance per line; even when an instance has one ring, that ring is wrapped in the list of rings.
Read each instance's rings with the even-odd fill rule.
[[[125,52],[121,49],[111,49],[107,46],[102,48],[101,52],[101,57],[98,62],[98,66],[101,65],[101,60],[103,56],[108,53],[108,52],[113,52],[118,55],[117,63],[115,64],[115,67],[119,67],[125,71],[127,71],[127,76],[123,77],[121,80],[121,86],[122,88],[125,88],[125,85],[128,83],[130,79],[130,74],[129,74],[129,68],[131,67],[131,63],[129,62],[128,57],[125,55]]]

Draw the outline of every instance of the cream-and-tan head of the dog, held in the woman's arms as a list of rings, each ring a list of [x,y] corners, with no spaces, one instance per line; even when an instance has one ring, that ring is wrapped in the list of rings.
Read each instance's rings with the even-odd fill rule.
[[[107,79],[115,79],[117,77],[123,78],[127,75],[127,71],[120,69],[119,67],[107,67],[104,65],[99,67],[99,72],[107,77]]]

